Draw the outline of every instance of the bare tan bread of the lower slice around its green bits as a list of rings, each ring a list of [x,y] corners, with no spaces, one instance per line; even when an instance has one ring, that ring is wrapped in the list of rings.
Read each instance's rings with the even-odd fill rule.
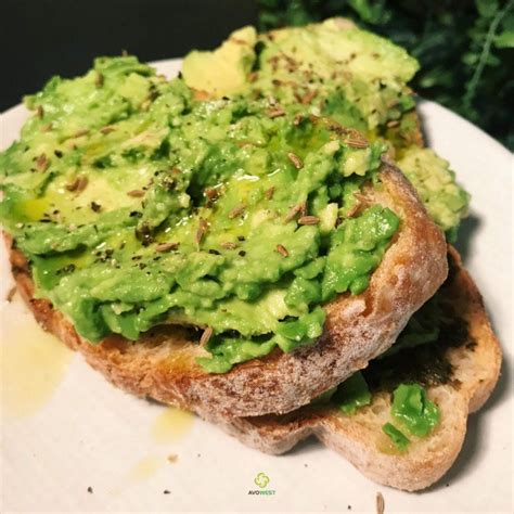
[[[449,257],[454,269],[441,287],[442,301],[451,306],[452,317],[464,321],[467,335],[460,346],[442,350],[451,369],[449,380],[427,387],[427,397],[440,409],[440,424],[427,437],[413,440],[406,453],[395,451],[382,432],[390,421],[390,391],[384,387],[374,391],[370,406],[350,415],[329,403],[304,407],[282,416],[218,417],[216,423],[246,445],[268,453],[283,453],[313,435],[374,481],[408,491],[434,484],[455,460],[467,416],[490,396],[501,365],[500,345],[480,294],[452,247]],[[423,381],[426,369],[413,370],[413,362],[409,372],[417,372]]]

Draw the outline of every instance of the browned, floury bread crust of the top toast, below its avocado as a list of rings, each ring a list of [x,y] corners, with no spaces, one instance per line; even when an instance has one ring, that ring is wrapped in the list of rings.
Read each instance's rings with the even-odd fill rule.
[[[29,269],[15,248],[11,248],[13,274],[39,323],[129,393],[204,416],[290,412],[385,351],[447,275],[444,235],[410,183],[387,163],[380,178],[376,188],[368,189],[367,202],[395,210],[400,229],[367,291],[339,295],[325,306],[325,331],[314,345],[291,354],[277,349],[224,374],[209,374],[196,364],[196,357],[206,351],[177,326],[151,330],[137,343],[110,336],[92,345],[48,300],[34,298]]]

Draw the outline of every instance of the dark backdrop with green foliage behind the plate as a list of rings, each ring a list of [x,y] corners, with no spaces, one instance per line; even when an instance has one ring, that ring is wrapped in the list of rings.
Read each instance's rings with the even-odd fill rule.
[[[0,110],[123,49],[143,61],[214,48],[234,28],[344,15],[404,46],[413,86],[514,149],[514,0],[1,0]]]

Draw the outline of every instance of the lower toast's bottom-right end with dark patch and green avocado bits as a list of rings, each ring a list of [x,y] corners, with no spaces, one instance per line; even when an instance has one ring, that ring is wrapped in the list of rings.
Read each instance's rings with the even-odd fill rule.
[[[457,459],[467,416],[489,398],[501,364],[480,294],[455,249],[450,247],[448,256],[450,273],[434,298],[444,312],[437,335],[421,346],[386,352],[370,362],[363,377],[347,382],[357,378],[369,386],[343,384],[329,398],[281,416],[213,421],[245,445],[274,454],[314,436],[372,480],[397,489],[415,491],[437,481]],[[394,408],[400,400],[420,406]],[[411,434],[404,417],[420,424],[429,402],[438,408],[438,422],[428,433]]]

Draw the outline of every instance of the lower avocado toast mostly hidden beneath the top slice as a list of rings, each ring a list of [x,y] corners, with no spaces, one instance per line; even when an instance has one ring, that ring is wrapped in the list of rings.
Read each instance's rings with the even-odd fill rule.
[[[344,36],[337,37],[342,30]],[[237,90],[255,94],[253,85],[265,83],[282,102],[295,98],[301,112],[322,112],[332,104],[331,115],[336,119],[350,117],[350,125],[368,130],[369,137],[387,139],[391,153],[400,157],[398,166],[415,187],[428,213],[447,237],[454,241],[468,196],[454,182],[448,163],[422,147],[415,112],[393,113],[397,119],[371,120],[362,127],[358,110],[342,105],[348,94],[351,95],[354,86],[337,89],[337,85],[326,81],[326,69],[337,70],[340,66],[335,57],[338,52],[346,59],[346,65],[354,63],[358,75],[360,69],[356,63],[370,55],[375,61],[381,57],[373,55],[376,44],[356,50],[358,33],[345,21],[327,21],[301,29],[285,28],[256,36],[254,41],[261,44],[255,55],[258,64],[254,64],[252,80],[240,81]],[[248,46],[252,33],[246,39]],[[339,42],[338,48],[334,40]],[[307,51],[301,52],[301,48]],[[233,56],[241,53],[241,49],[229,38],[214,53],[193,53],[190,63],[187,57],[184,67],[192,80],[196,63],[215,62],[221,52]],[[280,82],[273,83],[266,76],[259,79],[267,66],[274,67],[273,77],[281,77]],[[348,68],[338,69],[339,77],[348,73]],[[306,70],[307,85],[299,79]],[[188,74],[185,77],[188,79]],[[211,81],[208,87],[210,94],[218,94],[220,87],[224,88],[223,94],[231,94],[230,85],[227,91],[226,82]],[[301,89],[306,87],[310,93]],[[362,97],[364,106],[372,95]],[[386,112],[386,115],[391,114]],[[361,373],[310,406],[282,416],[214,421],[243,442],[270,453],[283,453],[314,435],[375,481],[406,490],[428,487],[457,458],[467,415],[479,409],[490,395],[501,364],[499,343],[476,285],[451,246],[448,258],[450,275],[441,288],[413,316],[393,348],[372,360]]]

